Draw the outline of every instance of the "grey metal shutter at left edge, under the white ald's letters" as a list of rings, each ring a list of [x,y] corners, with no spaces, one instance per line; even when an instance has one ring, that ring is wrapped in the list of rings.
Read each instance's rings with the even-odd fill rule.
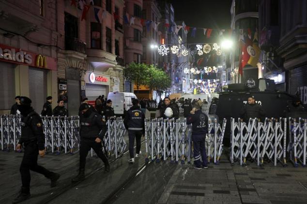
[[[14,65],[0,62],[0,110],[10,110],[15,103]]]

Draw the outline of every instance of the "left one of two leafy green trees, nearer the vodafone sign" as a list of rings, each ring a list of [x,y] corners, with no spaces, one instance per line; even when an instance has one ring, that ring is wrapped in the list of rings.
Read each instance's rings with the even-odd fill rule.
[[[140,86],[147,85],[146,82],[149,77],[148,66],[144,63],[138,64],[131,62],[129,66],[124,69],[124,76],[132,81],[138,90]]]

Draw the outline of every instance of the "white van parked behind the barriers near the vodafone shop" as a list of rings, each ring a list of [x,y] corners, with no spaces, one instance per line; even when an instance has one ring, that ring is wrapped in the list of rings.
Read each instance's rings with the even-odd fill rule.
[[[134,93],[128,92],[109,92],[107,100],[112,101],[112,106],[115,115],[124,115],[124,111],[129,110],[132,107],[132,101],[138,99]]]

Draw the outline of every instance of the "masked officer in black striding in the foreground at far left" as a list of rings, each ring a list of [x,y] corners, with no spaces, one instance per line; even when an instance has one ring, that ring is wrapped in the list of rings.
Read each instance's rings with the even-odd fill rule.
[[[18,110],[21,113],[21,137],[16,149],[24,146],[24,155],[20,165],[22,187],[19,195],[13,201],[14,204],[27,200],[30,194],[30,170],[51,180],[51,187],[56,186],[60,175],[46,170],[37,164],[37,156],[45,156],[45,136],[41,117],[31,107],[31,100],[21,96],[18,102]]]

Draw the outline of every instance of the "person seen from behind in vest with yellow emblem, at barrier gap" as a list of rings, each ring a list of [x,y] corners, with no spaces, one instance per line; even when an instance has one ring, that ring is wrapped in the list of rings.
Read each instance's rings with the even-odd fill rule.
[[[127,111],[126,117],[124,119],[125,128],[128,130],[129,135],[129,153],[130,153],[130,160],[129,163],[134,162],[134,139],[136,138],[137,141],[137,151],[136,151],[136,158],[139,157],[141,154],[141,136],[144,130],[144,119],[145,115],[143,111],[139,107],[138,99],[133,100],[133,106]]]

